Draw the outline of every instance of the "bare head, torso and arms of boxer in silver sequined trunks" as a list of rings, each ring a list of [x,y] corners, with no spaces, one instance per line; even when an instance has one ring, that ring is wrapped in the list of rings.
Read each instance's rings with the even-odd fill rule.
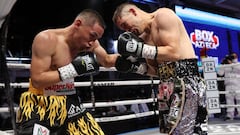
[[[144,43],[158,47],[157,59],[147,59],[149,75],[156,76],[157,65],[164,61],[196,58],[183,22],[171,9],[147,13],[129,5],[124,10],[124,16],[116,18],[116,25],[138,35]]]

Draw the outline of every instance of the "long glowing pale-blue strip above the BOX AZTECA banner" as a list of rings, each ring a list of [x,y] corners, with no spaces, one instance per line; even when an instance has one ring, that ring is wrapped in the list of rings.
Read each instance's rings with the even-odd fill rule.
[[[232,30],[240,30],[240,19],[186,8],[182,6],[175,7],[176,14],[184,21],[190,21],[201,24],[208,24]]]

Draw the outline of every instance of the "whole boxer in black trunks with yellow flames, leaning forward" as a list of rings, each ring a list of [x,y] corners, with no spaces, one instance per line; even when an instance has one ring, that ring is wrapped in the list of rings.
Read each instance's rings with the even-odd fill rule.
[[[32,44],[31,77],[17,113],[18,135],[103,135],[82,106],[74,78],[113,67],[118,54],[107,54],[98,39],[105,23],[85,9],[64,28],[38,33]]]

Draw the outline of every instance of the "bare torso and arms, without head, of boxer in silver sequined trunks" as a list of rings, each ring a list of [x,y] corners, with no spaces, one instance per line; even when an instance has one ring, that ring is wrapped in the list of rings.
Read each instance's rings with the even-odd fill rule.
[[[152,15],[149,30],[141,35],[145,43],[158,46],[157,60],[147,60],[150,68],[156,70],[162,62],[196,58],[184,24],[174,12],[161,8]]]

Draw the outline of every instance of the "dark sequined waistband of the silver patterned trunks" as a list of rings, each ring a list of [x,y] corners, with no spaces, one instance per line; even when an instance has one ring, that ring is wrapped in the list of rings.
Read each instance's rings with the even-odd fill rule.
[[[175,62],[164,62],[158,65],[160,80],[182,78],[184,76],[199,76],[197,59],[183,59]]]

